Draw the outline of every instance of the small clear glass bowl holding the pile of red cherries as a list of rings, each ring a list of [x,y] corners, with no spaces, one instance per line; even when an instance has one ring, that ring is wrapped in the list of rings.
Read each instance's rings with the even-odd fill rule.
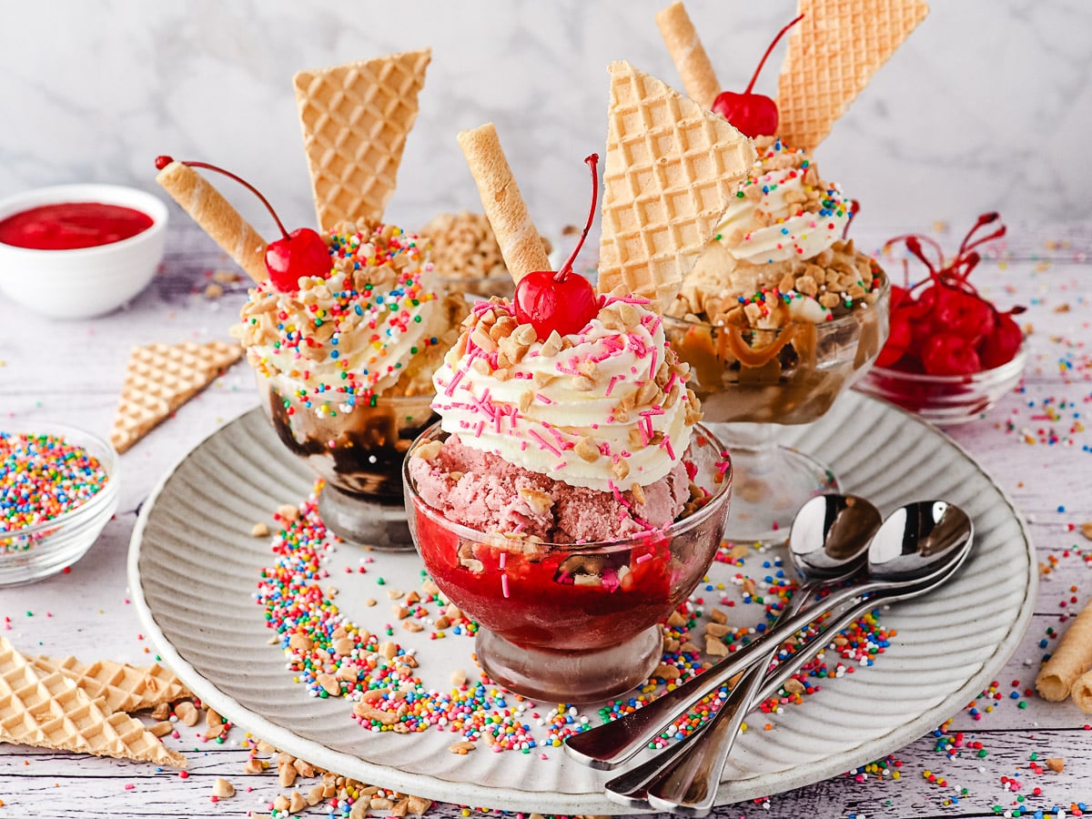
[[[1002,395],[1011,392],[1023,376],[1028,344],[1021,344],[1011,361],[969,376],[930,376],[873,367],[856,385],[874,395],[909,410],[937,426],[964,424],[982,416]]]

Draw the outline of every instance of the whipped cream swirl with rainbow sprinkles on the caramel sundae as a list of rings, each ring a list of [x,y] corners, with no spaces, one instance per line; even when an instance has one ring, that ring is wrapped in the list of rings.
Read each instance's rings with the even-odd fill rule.
[[[759,158],[724,213],[717,232],[740,261],[763,264],[811,259],[845,232],[853,203],[824,182],[811,156],[780,140],[756,140]]]

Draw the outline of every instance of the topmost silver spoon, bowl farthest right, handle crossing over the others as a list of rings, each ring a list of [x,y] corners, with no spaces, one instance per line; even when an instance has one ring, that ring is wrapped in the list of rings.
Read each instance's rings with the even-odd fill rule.
[[[928,521],[926,521],[928,518]],[[881,591],[889,593],[903,589],[913,590],[945,573],[950,563],[962,559],[961,548],[971,539],[970,519],[956,507],[942,501],[925,501],[910,505],[889,519],[881,533],[877,533],[875,553],[869,549],[869,574],[866,583],[829,594],[820,605],[804,613],[786,616],[784,624],[767,631],[732,656],[725,657],[678,688],[667,692],[644,708],[626,716],[606,723],[592,731],[577,734],[566,740],[566,750],[574,759],[600,769],[612,769],[631,758],[653,738],[685,713],[698,700],[709,696],[727,680],[752,663],[767,656],[763,646],[780,645],[792,633],[805,627],[822,614],[838,608],[856,597]],[[887,545],[897,538],[894,546]],[[917,544],[924,539],[924,548],[918,554]],[[914,544],[911,554],[902,556],[903,542]],[[875,563],[875,566],[874,566]],[[885,569],[890,574],[885,574]],[[917,582],[900,580],[906,572],[921,574]],[[783,618],[785,619],[785,618]]]

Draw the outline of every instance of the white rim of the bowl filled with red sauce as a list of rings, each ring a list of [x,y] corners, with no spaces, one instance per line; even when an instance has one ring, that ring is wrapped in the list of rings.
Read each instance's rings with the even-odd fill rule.
[[[167,205],[153,193],[149,193],[140,188],[129,188],[123,185],[107,185],[99,182],[81,182],[74,185],[55,185],[48,188],[33,188],[11,197],[0,200],[0,219],[13,216],[21,211],[48,204],[62,204],[66,202],[100,202],[103,204],[122,205],[142,211],[152,218],[152,224],[139,234],[130,236],[128,239],[111,241],[108,245],[95,245],[90,248],[72,248],[69,250],[39,250],[36,248],[21,248],[15,245],[0,242],[0,249],[4,253],[22,253],[36,256],[49,253],[50,256],[73,257],[78,253],[96,256],[110,253],[119,248],[126,248],[162,232],[167,225]]]

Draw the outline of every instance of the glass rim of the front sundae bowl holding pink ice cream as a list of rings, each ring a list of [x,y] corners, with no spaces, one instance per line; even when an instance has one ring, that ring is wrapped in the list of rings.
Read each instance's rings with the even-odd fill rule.
[[[422,438],[434,438],[438,435],[443,434],[447,437],[448,434],[442,432],[440,429],[440,423],[437,422],[432,424],[428,429],[420,434]],[[696,424],[693,427],[693,434],[703,435],[709,439],[709,442],[715,447],[720,452],[727,452],[727,447],[725,447],[721,439],[713,435],[709,427],[701,424]],[[695,446],[696,440],[691,438],[690,447]],[[415,442],[416,443],[416,442]],[[492,533],[482,532],[476,529],[471,529],[470,526],[464,526],[461,523],[455,523],[454,521],[448,520],[443,512],[439,509],[429,506],[425,502],[425,499],[417,494],[417,487],[414,485],[413,479],[410,477],[410,456],[413,454],[415,447],[411,447],[406,452],[406,459],[402,463],[402,480],[413,498],[415,506],[423,510],[428,517],[435,522],[443,525],[450,532],[459,535],[459,537],[466,541],[474,542],[485,542],[492,536]],[[688,448],[689,449],[689,448]],[[619,537],[615,541],[596,541],[591,543],[539,543],[536,544],[537,548],[550,551],[550,553],[563,553],[571,555],[579,555],[585,551],[590,553],[602,553],[602,551],[618,551],[622,549],[628,549],[634,546],[641,546],[644,542],[652,537],[675,537],[676,535],[689,532],[691,529],[704,523],[708,518],[714,514],[724,502],[729,498],[732,489],[732,467],[731,460],[728,470],[724,474],[724,479],[716,485],[716,490],[713,491],[705,503],[698,509],[693,514],[689,514],[686,518],[677,521],[673,521],[669,525],[664,529],[651,530],[649,532],[639,532],[628,537]]]

